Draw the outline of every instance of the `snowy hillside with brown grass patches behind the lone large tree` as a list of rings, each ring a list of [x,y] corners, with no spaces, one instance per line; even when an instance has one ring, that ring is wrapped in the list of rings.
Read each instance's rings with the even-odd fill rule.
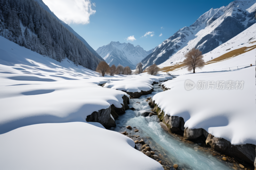
[[[254,65],[255,53],[256,23],[219,47],[204,54],[203,56],[206,64],[203,69],[196,69],[196,72],[235,70],[250,66],[250,64]],[[187,69],[177,65],[182,65],[182,62],[174,62],[170,64],[170,60],[171,59],[160,64],[159,67],[165,67],[167,70],[169,67],[174,68],[169,70],[169,73],[171,74],[179,73],[180,75],[190,73]]]

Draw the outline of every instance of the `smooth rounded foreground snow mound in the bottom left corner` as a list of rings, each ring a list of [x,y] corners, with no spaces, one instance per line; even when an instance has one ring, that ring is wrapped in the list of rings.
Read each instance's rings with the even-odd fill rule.
[[[163,169],[134,145],[122,134],[84,122],[30,125],[0,135],[1,168]]]

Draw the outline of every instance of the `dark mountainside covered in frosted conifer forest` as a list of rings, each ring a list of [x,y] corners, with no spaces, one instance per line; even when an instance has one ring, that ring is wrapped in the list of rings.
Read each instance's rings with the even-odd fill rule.
[[[34,0],[0,2],[0,36],[59,62],[95,70],[103,60]]]

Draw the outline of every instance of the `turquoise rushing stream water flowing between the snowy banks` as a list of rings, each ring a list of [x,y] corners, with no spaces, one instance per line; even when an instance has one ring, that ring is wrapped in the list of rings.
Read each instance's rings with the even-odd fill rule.
[[[156,155],[161,153],[165,159],[171,160],[172,165],[178,164],[180,170],[234,170],[228,166],[228,163],[201,151],[198,144],[186,144],[164,131],[159,125],[159,119],[156,115],[151,117],[141,116],[141,113],[151,112],[151,108],[145,100],[162,91],[161,86],[154,85],[152,94],[142,95],[138,99],[130,99],[129,107],[134,107],[136,110],[126,110],[125,114],[116,118],[116,127],[110,130],[116,132],[127,131],[132,135],[139,135],[156,152]],[[140,104],[136,102],[140,102]],[[139,132],[126,129],[125,127],[128,125],[136,127]]]

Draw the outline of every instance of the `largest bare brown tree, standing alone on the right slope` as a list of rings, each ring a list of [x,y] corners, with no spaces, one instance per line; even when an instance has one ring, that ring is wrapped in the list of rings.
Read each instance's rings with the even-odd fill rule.
[[[204,67],[204,56],[199,49],[192,48],[187,54],[185,54],[185,57],[186,58],[183,62],[185,67],[188,68],[188,71],[193,70],[193,73],[195,73],[196,68],[202,69]]]

